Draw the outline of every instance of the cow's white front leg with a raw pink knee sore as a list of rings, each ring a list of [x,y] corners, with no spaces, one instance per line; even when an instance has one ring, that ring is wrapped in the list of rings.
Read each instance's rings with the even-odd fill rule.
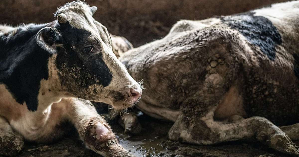
[[[75,125],[80,138],[89,149],[105,157],[134,157],[118,144],[112,129],[90,101],[82,99],[62,101],[69,104],[67,117]]]

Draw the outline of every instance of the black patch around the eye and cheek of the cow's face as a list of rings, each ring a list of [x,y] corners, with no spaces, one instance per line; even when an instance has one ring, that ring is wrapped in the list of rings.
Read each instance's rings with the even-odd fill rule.
[[[68,23],[61,24],[57,29],[62,34],[65,48],[64,52],[61,51],[57,54],[57,68],[60,71],[73,73],[70,77],[80,87],[86,88],[93,84],[108,86],[112,80],[112,74],[103,61],[100,43],[89,41],[90,32],[73,28]],[[84,52],[83,48],[90,44],[94,48],[99,47],[97,48],[99,52]],[[61,79],[62,83],[67,83],[69,78],[61,77]]]

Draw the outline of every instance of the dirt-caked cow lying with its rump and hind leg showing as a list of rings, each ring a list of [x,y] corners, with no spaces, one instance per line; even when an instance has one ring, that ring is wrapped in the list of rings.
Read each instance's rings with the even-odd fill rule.
[[[298,41],[299,1],[291,1],[179,21],[163,39],[119,59],[135,80],[144,79],[137,107],[175,122],[171,140],[255,139],[299,156],[291,141],[299,139]]]

